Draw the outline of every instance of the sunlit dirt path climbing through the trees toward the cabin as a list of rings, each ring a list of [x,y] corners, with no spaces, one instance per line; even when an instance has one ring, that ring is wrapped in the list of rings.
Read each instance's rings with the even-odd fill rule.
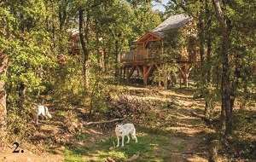
[[[169,136],[170,149],[163,153],[172,156],[166,161],[208,161],[207,133],[208,129],[201,119],[191,116],[191,111],[202,110],[202,101],[194,101],[192,95],[166,93],[166,98],[143,97],[143,100],[156,100],[167,102],[161,112],[166,113],[164,125],[159,125],[164,130],[172,130],[175,134]],[[168,103],[177,101],[183,106],[170,107]],[[185,107],[188,105],[189,107]]]

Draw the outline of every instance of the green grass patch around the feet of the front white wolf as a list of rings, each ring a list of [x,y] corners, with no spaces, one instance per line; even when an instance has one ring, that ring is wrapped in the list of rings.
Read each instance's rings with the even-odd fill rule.
[[[159,128],[138,127],[139,135],[137,135],[138,142],[133,140],[126,144],[123,148],[113,147],[113,142],[116,144],[116,138],[110,137],[106,141],[96,142],[91,148],[73,146],[65,149],[65,161],[90,161],[98,162],[104,161],[111,157],[116,162],[127,161],[133,154],[140,154],[135,161],[142,162],[164,162],[172,156],[172,147],[182,151],[183,146],[172,144],[168,136],[174,135],[172,130],[160,130]],[[125,138],[125,141],[127,138]]]

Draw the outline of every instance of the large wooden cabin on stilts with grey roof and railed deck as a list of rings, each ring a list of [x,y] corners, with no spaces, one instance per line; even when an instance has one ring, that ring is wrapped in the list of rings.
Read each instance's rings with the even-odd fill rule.
[[[119,54],[121,75],[124,72],[124,78],[129,82],[137,70],[137,74],[143,77],[143,84],[147,85],[154,71],[160,70],[166,88],[168,79],[173,80],[174,76],[167,67],[176,67],[179,70],[176,75],[182,76],[183,84],[188,86],[189,71],[198,62],[196,36],[193,20],[188,16],[170,16],[135,41],[136,50]]]

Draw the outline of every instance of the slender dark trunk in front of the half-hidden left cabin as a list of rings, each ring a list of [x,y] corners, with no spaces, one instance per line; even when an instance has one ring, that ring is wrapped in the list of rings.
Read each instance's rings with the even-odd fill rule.
[[[84,53],[84,87],[87,89],[89,87],[89,79],[88,79],[88,61],[89,61],[89,52],[86,48],[84,42],[84,10],[79,10],[79,37],[80,43],[82,45],[83,53]]]

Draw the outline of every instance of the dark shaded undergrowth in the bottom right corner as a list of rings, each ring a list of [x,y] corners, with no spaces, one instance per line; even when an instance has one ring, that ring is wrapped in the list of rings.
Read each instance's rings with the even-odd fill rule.
[[[220,132],[210,136],[210,139],[218,139],[221,143],[218,153],[230,160],[255,159],[256,143],[250,134],[256,123],[253,120],[255,113],[248,110],[234,112],[234,131],[230,136],[224,136]]]

